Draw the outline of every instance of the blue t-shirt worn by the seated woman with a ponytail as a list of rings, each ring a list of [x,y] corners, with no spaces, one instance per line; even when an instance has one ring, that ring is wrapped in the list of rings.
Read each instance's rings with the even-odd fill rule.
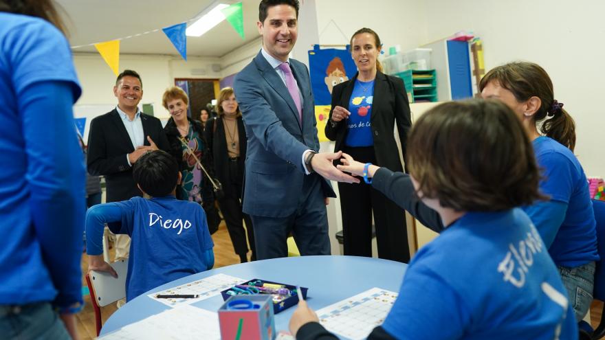
[[[567,205],[561,225],[549,223],[548,216],[536,220],[532,207],[524,208],[540,234],[555,234],[549,247],[553,261],[564,267],[598,261],[595,214],[580,162],[569,148],[549,137],[534,139],[533,150],[542,169],[540,191]]]

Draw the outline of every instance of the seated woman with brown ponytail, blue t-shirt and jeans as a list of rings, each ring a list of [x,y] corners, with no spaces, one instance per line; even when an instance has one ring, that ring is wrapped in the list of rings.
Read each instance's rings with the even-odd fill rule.
[[[588,182],[573,155],[573,119],[555,100],[548,73],[534,63],[496,67],[483,77],[479,89],[483,98],[497,98],[513,109],[532,141],[542,168],[540,190],[549,200],[524,210],[549,248],[580,321],[593,299],[599,256]]]

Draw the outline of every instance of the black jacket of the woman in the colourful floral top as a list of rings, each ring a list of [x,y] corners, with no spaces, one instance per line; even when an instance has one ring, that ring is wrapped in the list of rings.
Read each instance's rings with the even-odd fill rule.
[[[193,131],[197,133],[199,138],[202,140],[202,148],[199,150],[201,151],[199,161],[201,162],[203,168],[208,171],[208,174],[214,178],[214,172],[212,170],[212,155],[209,152],[210,148],[208,148],[206,139],[204,138],[201,122],[198,120],[192,120],[189,117],[187,117],[187,120],[191,123],[191,126],[193,126]],[[175,120],[172,117],[170,117],[170,120],[168,120],[166,126],[164,126],[164,132],[166,133],[166,138],[168,138],[168,144],[170,144],[170,155],[173,155],[173,157],[175,157],[177,160],[177,163],[179,163],[179,171],[183,171],[186,167],[186,163],[183,159],[183,148],[181,146],[181,141],[179,140],[181,133],[179,133],[177,124],[175,124]],[[208,181],[206,174],[203,174],[202,172],[201,176],[203,183],[203,187],[201,188],[201,199],[203,201],[203,205],[206,206],[214,202],[214,190],[212,190],[212,183]],[[188,198],[181,196],[180,187],[180,184],[177,185],[177,199],[187,200]]]

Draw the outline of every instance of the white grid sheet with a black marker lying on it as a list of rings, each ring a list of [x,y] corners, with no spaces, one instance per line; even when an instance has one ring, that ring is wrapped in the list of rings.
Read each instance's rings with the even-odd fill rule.
[[[189,282],[188,284],[183,284],[181,286],[177,286],[174,288],[166,289],[166,291],[161,291],[153,294],[147,295],[154,299],[157,302],[162,302],[166,306],[175,307],[181,304],[192,304],[194,302],[201,301],[203,299],[208,299],[208,297],[213,297],[214,295],[221,294],[221,291],[225,289],[231,288],[236,284],[242,284],[248,280],[241,279],[239,277],[234,277],[231,275],[225,274],[217,274],[212,275],[201,280],[197,280],[194,282]],[[199,297],[195,299],[158,299],[155,297],[158,294],[162,295],[172,295],[172,294],[197,294]]]

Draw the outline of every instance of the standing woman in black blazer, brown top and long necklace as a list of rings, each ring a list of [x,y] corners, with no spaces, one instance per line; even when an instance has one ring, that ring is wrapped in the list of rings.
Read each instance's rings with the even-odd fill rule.
[[[241,211],[246,137],[241,111],[235,101],[232,88],[225,87],[219,93],[217,113],[216,119],[206,122],[204,133],[208,148],[212,150],[214,173],[223,184],[223,192],[225,192],[223,198],[219,199],[219,207],[223,212],[233,248],[241,262],[248,262],[246,244],[246,230],[248,230],[248,242],[252,250],[251,260],[254,261],[256,248],[252,220],[248,214]],[[245,229],[242,220],[245,221]]]

